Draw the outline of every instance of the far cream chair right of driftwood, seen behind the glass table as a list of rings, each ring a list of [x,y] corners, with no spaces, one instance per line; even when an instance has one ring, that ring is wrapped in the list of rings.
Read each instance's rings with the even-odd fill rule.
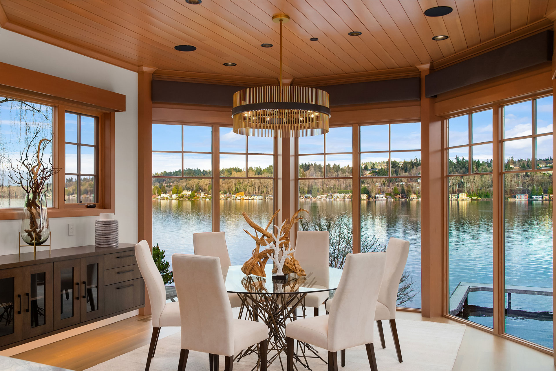
[[[295,241],[294,258],[301,268],[310,270],[311,266],[329,266],[330,236],[328,231],[299,231]],[[316,270],[315,270],[316,272]],[[328,283],[328,269],[319,270],[325,276],[316,277],[317,283]],[[328,288],[328,286],[326,286]],[[305,296],[305,306],[314,308],[315,316],[319,315],[319,306],[328,298],[328,291],[309,293]]]

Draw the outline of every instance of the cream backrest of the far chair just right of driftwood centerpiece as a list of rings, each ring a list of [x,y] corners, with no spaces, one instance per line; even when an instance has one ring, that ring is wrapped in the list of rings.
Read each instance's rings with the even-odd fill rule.
[[[328,266],[330,236],[328,231],[299,231],[294,256],[303,266]]]

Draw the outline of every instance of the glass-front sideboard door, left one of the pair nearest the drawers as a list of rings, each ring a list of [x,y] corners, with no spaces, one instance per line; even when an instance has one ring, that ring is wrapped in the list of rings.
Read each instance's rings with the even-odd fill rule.
[[[81,321],[81,259],[54,261],[54,330]]]

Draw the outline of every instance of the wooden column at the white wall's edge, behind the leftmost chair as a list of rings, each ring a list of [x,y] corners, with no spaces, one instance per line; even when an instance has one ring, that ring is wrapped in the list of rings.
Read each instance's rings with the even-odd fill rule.
[[[140,66],[137,72],[137,240],[152,246],[152,73],[156,68]],[[151,314],[145,288],[145,308]]]

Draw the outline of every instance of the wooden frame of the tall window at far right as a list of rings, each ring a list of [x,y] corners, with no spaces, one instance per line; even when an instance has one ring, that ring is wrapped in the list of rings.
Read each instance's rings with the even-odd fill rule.
[[[485,332],[492,333],[497,335],[498,337],[502,337],[504,339],[512,340],[515,343],[526,345],[529,348],[537,349],[540,352],[553,355],[554,349],[550,349],[544,347],[543,345],[530,342],[529,340],[525,340],[522,338],[518,338],[514,335],[510,335],[505,332],[505,244],[504,244],[504,175],[514,172],[543,172],[546,169],[536,169],[537,159],[536,159],[536,148],[535,148],[535,138],[553,135],[553,152],[554,152],[554,133],[541,133],[537,134],[536,131],[536,112],[535,112],[535,100],[547,96],[553,96],[552,90],[539,90],[537,92],[528,93],[527,95],[522,95],[520,97],[512,97],[512,98],[505,98],[503,100],[495,101],[489,104],[482,104],[480,106],[475,106],[471,108],[467,108],[466,110],[459,110],[453,113],[448,113],[443,115],[442,117],[442,128],[443,128],[443,158],[444,163],[446,164],[443,166],[443,194],[441,195],[445,202],[443,202],[444,208],[444,229],[445,229],[445,236],[444,236],[444,290],[443,290],[443,316],[460,323],[469,325],[470,327],[474,327],[477,329],[481,329]],[[532,101],[533,111],[532,111],[532,134],[523,136],[523,137],[513,137],[513,138],[504,138],[504,106],[512,105],[514,103],[520,102],[527,102]],[[469,161],[469,173],[468,174],[448,174],[448,149],[453,147],[448,147],[448,120],[451,117],[457,117],[462,115],[469,115],[474,112],[480,112],[484,110],[492,109],[493,111],[493,171],[492,172],[483,172],[483,173],[473,173],[471,172],[471,161]],[[554,105],[553,105],[553,112],[554,112]],[[554,115],[554,113],[553,113]],[[533,120],[534,117],[534,120]],[[554,116],[553,116],[554,117]],[[471,120],[471,118],[469,118]],[[554,120],[553,120],[554,121]],[[469,127],[471,129],[471,127]],[[471,135],[471,132],[469,132]],[[504,142],[512,141],[512,140],[519,140],[519,139],[527,139],[530,138],[533,143],[532,148],[532,169],[525,169],[525,170],[504,170]],[[489,144],[489,142],[481,142],[476,144],[468,145],[461,145],[461,146],[454,146],[454,147],[469,147],[478,144]],[[470,151],[470,150],[469,150]],[[553,155],[554,158],[554,155]],[[471,157],[469,158],[471,160]],[[450,296],[450,289],[449,289],[449,245],[448,245],[448,235],[449,235],[449,222],[448,222],[448,179],[449,177],[453,176],[473,176],[473,175],[492,175],[493,179],[493,328],[486,327],[484,325],[474,323],[473,321],[466,320],[460,318],[455,315],[449,314],[449,296]],[[554,187],[554,174],[553,174],[553,187]],[[554,205],[553,205],[554,207]],[[554,244],[553,244],[553,261],[555,260],[554,255]],[[554,264],[553,264],[553,273],[554,273]],[[554,280],[554,274],[553,274]],[[554,299],[553,299],[554,300]]]

